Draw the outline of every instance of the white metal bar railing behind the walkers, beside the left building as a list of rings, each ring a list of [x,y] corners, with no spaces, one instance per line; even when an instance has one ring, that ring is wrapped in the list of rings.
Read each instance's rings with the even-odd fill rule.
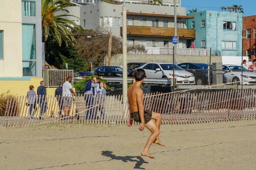
[[[58,87],[58,83],[64,83],[67,77],[74,77],[73,70],[56,70],[56,69],[47,69],[43,70],[43,79],[45,82],[45,87],[55,88]],[[73,85],[73,81],[71,82]]]

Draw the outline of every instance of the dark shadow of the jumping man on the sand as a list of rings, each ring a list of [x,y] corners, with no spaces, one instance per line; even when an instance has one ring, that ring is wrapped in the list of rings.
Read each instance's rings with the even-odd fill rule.
[[[145,168],[140,167],[143,163],[148,164],[148,162],[145,162],[144,159],[141,156],[115,156],[112,154],[112,151],[106,150],[102,151],[103,156],[110,157],[111,159],[116,159],[116,160],[122,160],[123,162],[136,162],[134,169],[141,169],[145,170]],[[136,158],[135,160],[133,158]]]

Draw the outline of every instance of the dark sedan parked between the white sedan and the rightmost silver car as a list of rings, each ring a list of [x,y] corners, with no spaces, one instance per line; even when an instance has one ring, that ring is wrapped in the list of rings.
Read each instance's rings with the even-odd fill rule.
[[[189,69],[195,76],[196,85],[208,85],[208,64],[184,62],[178,64],[183,69]],[[212,66],[210,67],[212,69]],[[223,83],[227,83],[227,77],[223,74]],[[210,71],[210,84],[212,84],[212,71]]]

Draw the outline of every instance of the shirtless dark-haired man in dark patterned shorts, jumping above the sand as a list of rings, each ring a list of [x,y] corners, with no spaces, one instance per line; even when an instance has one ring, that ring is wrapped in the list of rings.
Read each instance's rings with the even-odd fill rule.
[[[144,82],[145,78],[146,74],[142,68],[134,71],[135,82],[128,88],[127,92],[130,110],[130,119],[128,120],[127,125],[130,127],[134,119],[135,122],[140,122],[140,131],[143,131],[145,127],[147,127],[147,129],[151,131],[151,135],[149,136],[148,142],[146,143],[143,151],[141,152],[141,155],[155,159],[154,156],[151,156],[148,153],[148,150],[152,143],[165,146],[159,139],[159,129],[162,121],[162,115],[160,113],[155,113],[152,111],[144,111],[143,91],[140,88],[140,85]],[[152,119],[154,119],[155,122]]]

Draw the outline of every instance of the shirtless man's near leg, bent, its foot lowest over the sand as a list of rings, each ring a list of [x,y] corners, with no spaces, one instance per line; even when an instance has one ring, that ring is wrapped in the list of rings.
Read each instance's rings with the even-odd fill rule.
[[[148,138],[148,142],[146,143],[143,151],[141,152],[141,155],[142,156],[148,156],[149,158],[153,158],[155,159],[154,156],[151,156],[149,153],[148,153],[148,150],[149,150],[149,147],[151,146],[151,144],[156,141],[157,139],[157,136],[159,136],[160,134],[160,130],[159,128],[157,127],[156,123],[154,122],[154,120],[150,120],[147,124],[145,124],[145,127],[151,131],[151,135],[149,136]]]

